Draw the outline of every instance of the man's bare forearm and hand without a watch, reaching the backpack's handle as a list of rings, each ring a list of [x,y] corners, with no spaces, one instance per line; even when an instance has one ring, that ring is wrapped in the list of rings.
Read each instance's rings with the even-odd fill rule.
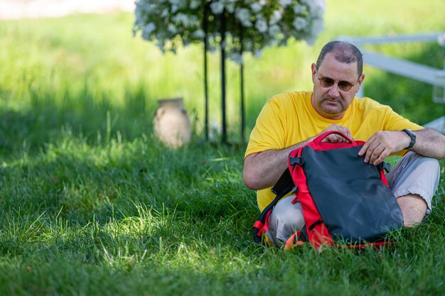
[[[341,131],[352,138],[351,132],[344,126],[338,126],[333,124],[322,131]],[[321,134],[319,133],[319,134]],[[253,153],[247,155],[244,160],[244,170],[242,172],[242,178],[245,185],[252,190],[262,190],[264,188],[272,187],[277,183],[279,177],[283,174],[287,168],[287,158],[292,150],[304,146],[313,140],[312,137],[305,141],[295,144],[294,146],[284,148],[282,150],[264,150],[259,153]],[[323,140],[323,142],[344,142],[345,138],[336,134],[331,134]]]

